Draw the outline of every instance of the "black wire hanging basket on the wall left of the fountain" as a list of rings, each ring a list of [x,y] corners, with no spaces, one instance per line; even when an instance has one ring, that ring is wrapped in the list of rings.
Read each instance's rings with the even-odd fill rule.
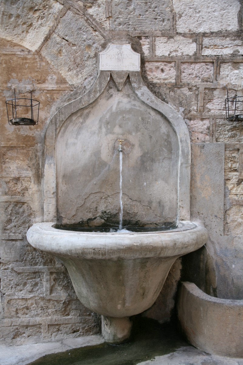
[[[35,126],[38,124],[40,102],[31,98],[16,98],[7,100],[8,124],[12,126]]]

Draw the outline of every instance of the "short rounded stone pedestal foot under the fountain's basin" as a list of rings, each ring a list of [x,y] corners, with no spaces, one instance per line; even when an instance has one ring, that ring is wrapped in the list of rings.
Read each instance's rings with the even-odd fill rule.
[[[129,317],[101,316],[102,335],[106,342],[118,344],[129,339],[132,322]]]

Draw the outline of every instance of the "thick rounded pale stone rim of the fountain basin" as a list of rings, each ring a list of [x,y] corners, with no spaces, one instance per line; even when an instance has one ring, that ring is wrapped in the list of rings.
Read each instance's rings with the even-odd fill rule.
[[[146,233],[75,232],[54,226],[35,223],[27,232],[28,242],[54,255],[107,259],[181,256],[199,249],[208,238],[203,226],[190,221],[181,221],[174,230]]]

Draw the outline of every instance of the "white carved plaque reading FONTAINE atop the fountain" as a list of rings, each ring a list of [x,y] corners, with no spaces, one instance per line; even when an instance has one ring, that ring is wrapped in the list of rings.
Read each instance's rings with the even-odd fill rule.
[[[99,69],[106,71],[140,71],[140,54],[131,45],[109,45],[99,54]]]

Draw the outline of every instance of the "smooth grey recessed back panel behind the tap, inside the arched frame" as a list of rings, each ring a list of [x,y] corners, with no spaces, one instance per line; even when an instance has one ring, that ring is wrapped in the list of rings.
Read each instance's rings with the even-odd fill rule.
[[[165,116],[138,98],[129,77],[121,91],[111,78],[98,99],[68,116],[60,128],[58,223],[119,222],[118,139],[124,140],[124,224],[175,223],[179,140]]]

